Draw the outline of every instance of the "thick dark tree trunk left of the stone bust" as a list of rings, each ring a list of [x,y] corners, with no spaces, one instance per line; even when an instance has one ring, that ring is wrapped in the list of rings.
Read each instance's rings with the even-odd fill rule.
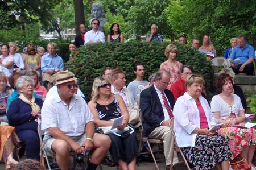
[[[74,0],[75,9],[75,28],[76,34],[79,34],[79,25],[85,24],[84,21],[84,2],[82,0]]]

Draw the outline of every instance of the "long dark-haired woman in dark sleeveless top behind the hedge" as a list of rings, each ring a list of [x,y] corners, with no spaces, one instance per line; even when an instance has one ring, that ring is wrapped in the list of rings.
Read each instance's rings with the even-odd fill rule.
[[[119,24],[113,23],[110,27],[110,34],[107,38],[108,42],[123,42],[123,35],[121,34]]]

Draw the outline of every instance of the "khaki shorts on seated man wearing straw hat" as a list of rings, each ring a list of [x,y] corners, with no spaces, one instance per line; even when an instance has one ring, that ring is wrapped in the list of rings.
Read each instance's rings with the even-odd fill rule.
[[[51,135],[45,135],[44,136],[44,140],[43,140],[43,145],[44,145],[44,149],[46,150],[46,154],[49,156],[56,156],[55,152],[52,151],[52,143],[53,141],[56,140],[55,138],[53,138]],[[79,143],[80,146],[82,146],[82,144],[84,144],[86,140],[86,134],[84,133],[80,139],[75,140],[76,143]],[[69,146],[69,151],[71,151],[71,147]]]

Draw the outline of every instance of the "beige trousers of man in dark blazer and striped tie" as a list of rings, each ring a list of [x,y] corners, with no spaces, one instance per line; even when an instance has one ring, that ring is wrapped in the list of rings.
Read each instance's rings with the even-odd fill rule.
[[[174,147],[174,140],[172,139],[171,130],[168,126],[159,126],[156,127],[154,131],[151,132],[151,134],[148,135],[149,138],[152,139],[162,139],[164,144],[164,156],[166,157],[166,165],[171,164],[171,153],[172,148]],[[177,152],[174,152],[174,161],[172,164],[178,163],[178,157]]]

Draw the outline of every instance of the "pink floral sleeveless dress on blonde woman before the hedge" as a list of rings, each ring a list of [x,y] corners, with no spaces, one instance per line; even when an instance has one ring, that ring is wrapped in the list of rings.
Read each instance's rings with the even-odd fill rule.
[[[175,61],[175,65],[173,68],[170,68],[168,63],[164,61],[164,69],[166,69],[170,75],[170,84],[168,84],[167,89],[170,90],[172,84],[174,84],[180,78],[180,65],[182,65],[179,61]]]

